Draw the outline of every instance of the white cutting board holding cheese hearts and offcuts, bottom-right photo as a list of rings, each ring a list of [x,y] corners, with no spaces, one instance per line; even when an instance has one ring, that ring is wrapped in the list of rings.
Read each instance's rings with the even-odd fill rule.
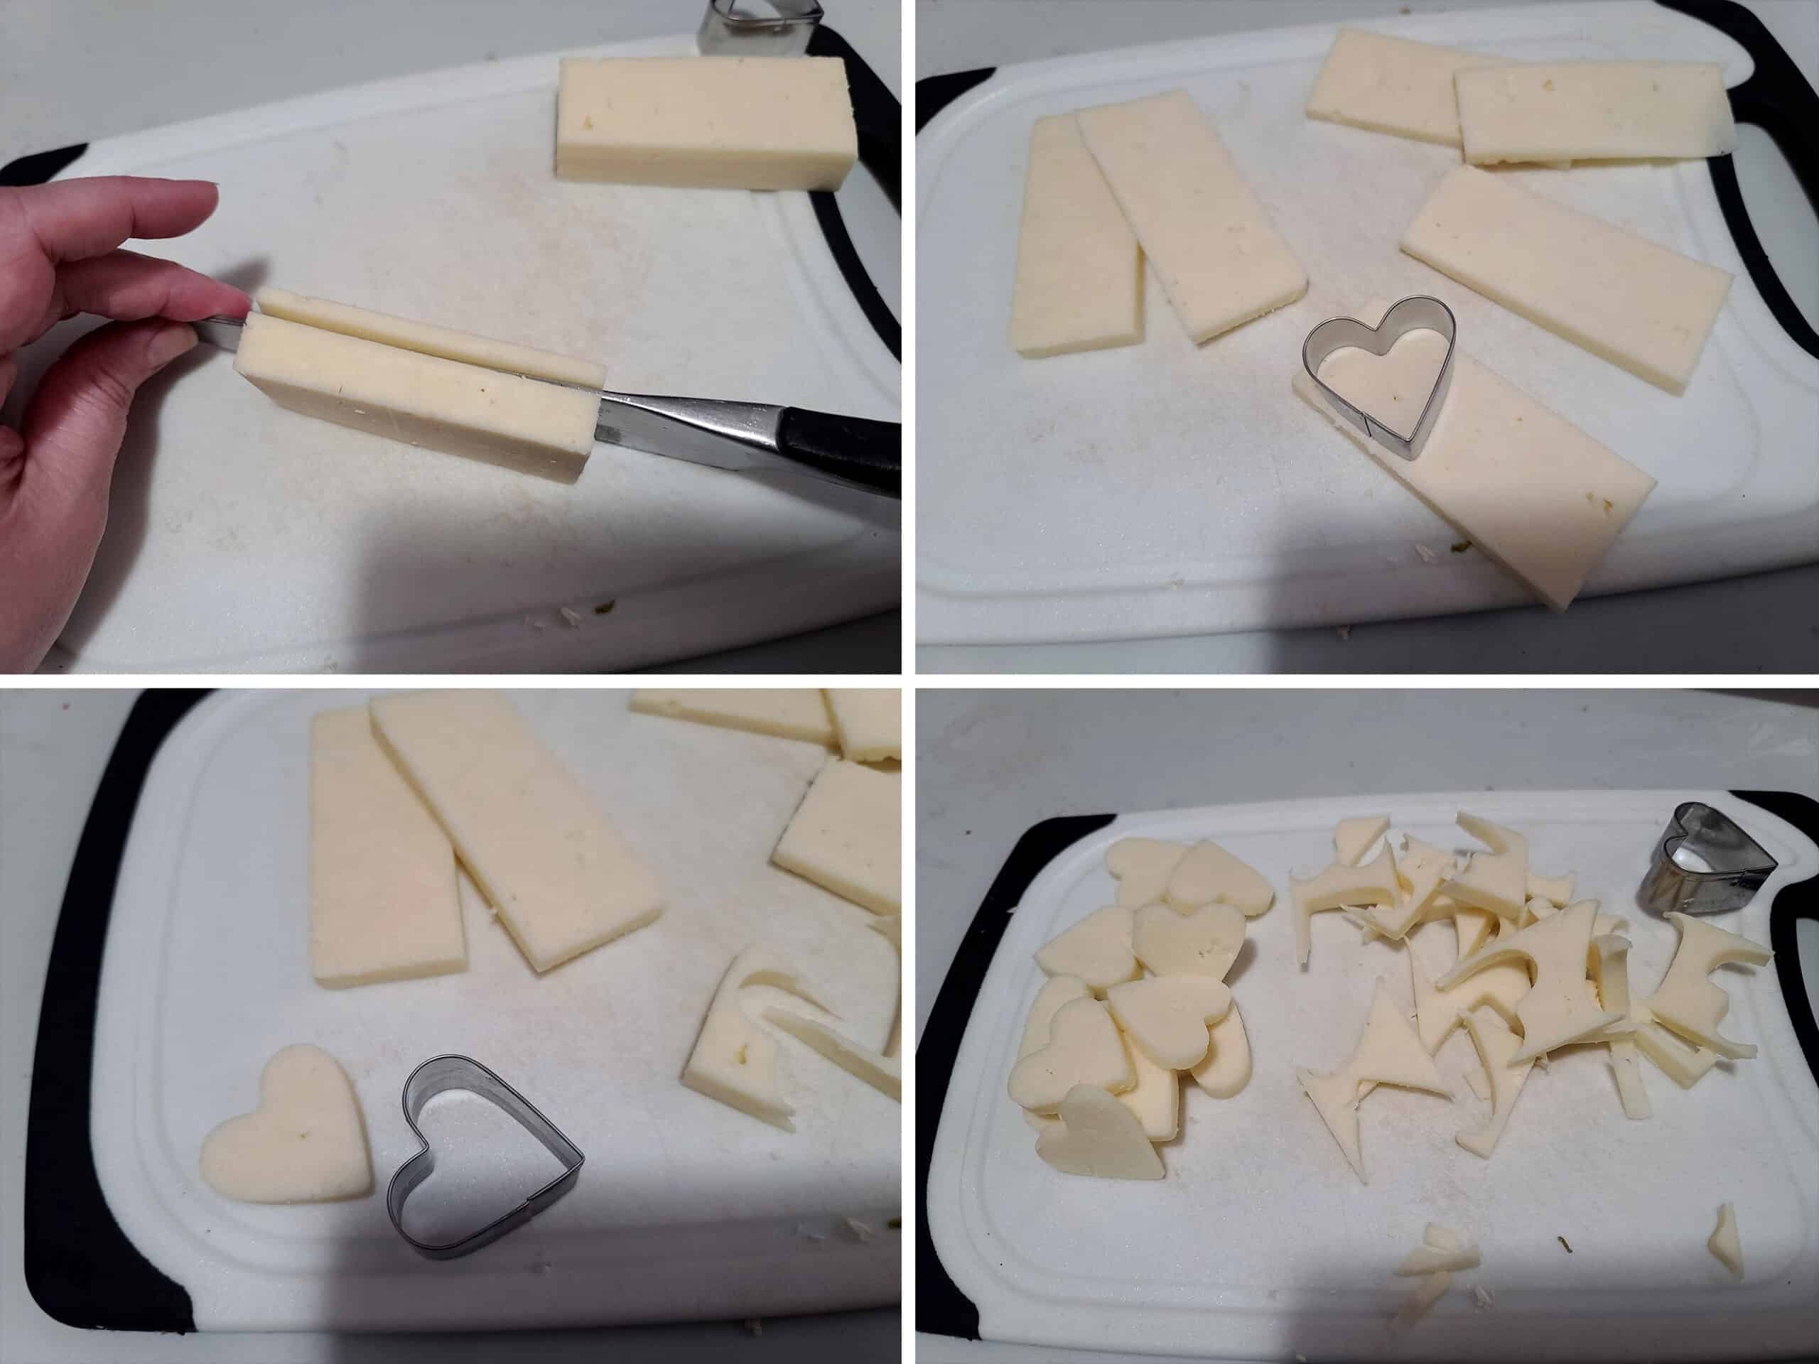
[[[1357,1042],[1373,980],[1412,1004],[1401,949],[1364,946],[1337,913],[1315,915],[1295,966],[1291,871],[1332,862],[1333,824],[1388,813],[1397,831],[1468,847],[1462,807],[1530,837],[1532,866],[1577,871],[1575,895],[1630,920],[1632,988],[1652,991],[1673,955],[1670,924],[1635,888],[1681,800],[1743,824],[1779,871],[1735,915],[1710,922],[1768,942],[1775,893],[1819,873],[1819,849],[1786,822],[1726,793],[1472,791],[1286,800],[1124,815],[1055,857],[1011,917],[973,1004],[928,1171],[940,1262],[979,1308],[980,1337],[1222,1359],[1743,1359],[1797,1353],[1819,1331],[1819,1088],[1801,1057],[1774,968],[1723,969],[1728,1037],[1757,1058],[1719,1062],[1679,1089],[1650,1062],[1653,1117],[1624,1118],[1595,1049],[1532,1071],[1490,1160],[1453,1140],[1484,1106],[1464,1086],[1462,1033],[1439,1051],[1461,1095],[1382,1089],[1362,1108],[1361,1184],[1295,1080],[1328,1071]],[[1161,1148],[1168,1177],[1113,1182],[1060,1175],[1006,1097],[1030,1002],[1033,953],[1113,898],[1104,851],[1119,838],[1215,838],[1277,886],[1250,920],[1231,975],[1255,1071],[1230,1100],[1182,1086],[1182,1135]],[[1450,924],[1415,948],[1450,960]],[[1717,1206],[1734,1202],[1748,1279],[1732,1286],[1706,1251]],[[1457,1228],[1482,1266],[1492,1313],[1450,1293],[1419,1329],[1386,1322],[1410,1288],[1390,1273],[1426,1222]],[[1555,1237],[1564,1235],[1572,1255]]]

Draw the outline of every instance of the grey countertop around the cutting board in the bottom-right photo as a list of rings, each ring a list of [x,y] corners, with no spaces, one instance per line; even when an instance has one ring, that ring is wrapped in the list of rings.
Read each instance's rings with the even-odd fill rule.
[[[1053,815],[1393,791],[1728,787],[1819,797],[1819,693],[920,691],[917,1028],[1017,838]],[[1819,1009],[1819,924],[1801,924]],[[933,1091],[919,1104],[937,1104]],[[1055,1360],[919,1335],[917,1357]],[[1066,1355],[1070,1364],[1099,1355]]]

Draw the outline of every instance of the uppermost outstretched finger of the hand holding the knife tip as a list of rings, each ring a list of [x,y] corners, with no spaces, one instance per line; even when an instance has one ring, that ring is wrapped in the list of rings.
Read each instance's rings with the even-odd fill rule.
[[[131,236],[182,236],[220,198],[207,180],[100,175],[11,191],[25,231],[58,264],[113,251]]]

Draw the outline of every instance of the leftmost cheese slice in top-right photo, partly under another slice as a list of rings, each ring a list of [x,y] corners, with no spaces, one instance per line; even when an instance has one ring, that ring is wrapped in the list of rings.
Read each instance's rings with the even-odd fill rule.
[[[1142,249],[1073,115],[1037,118],[1024,173],[1011,349],[1028,360],[1142,340]]]

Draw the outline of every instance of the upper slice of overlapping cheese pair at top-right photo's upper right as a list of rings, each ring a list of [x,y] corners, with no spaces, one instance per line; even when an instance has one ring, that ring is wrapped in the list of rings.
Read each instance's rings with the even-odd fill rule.
[[[1737,125],[1715,62],[1550,62],[1455,76],[1466,160],[1724,156]]]

